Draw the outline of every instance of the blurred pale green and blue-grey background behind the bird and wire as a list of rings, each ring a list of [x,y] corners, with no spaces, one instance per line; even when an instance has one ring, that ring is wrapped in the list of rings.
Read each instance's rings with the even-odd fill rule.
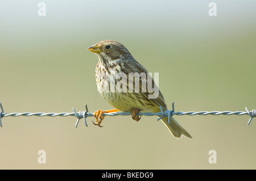
[[[149,72],[175,111],[256,108],[256,2],[0,2],[0,101],[11,112],[108,110],[97,92],[90,45],[113,39]],[[157,117],[3,117],[0,169],[256,169],[256,120],[175,116],[191,135],[175,139]],[[95,121],[95,120],[94,120]],[[46,150],[46,164],[38,163]],[[208,162],[209,150],[217,163]]]

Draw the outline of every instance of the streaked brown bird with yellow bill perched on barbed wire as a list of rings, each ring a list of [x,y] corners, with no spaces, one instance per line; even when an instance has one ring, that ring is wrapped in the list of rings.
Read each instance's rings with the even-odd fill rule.
[[[164,97],[158,86],[156,86],[154,79],[150,77],[150,74],[151,86],[147,86],[146,79],[143,76],[135,76],[148,75],[148,71],[135,60],[123,44],[114,40],[104,40],[90,46],[88,50],[96,53],[98,56],[98,64],[95,70],[98,92],[100,92],[106,102],[114,107],[113,110],[95,111],[95,125],[102,127],[100,125],[104,119],[102,113],[130,112],[132,113],[132,118],[139,121],[141,117],[137,116],[138,112],[157,113],[160,112],[160,107],[162,107],[163,111],[168,110]],[[117,75],[119,75],[119,78],[116,78]],[[129,79],[129,75],[134,75],[134,77]],[[122,77],[122,82],[120,77]],[[134,81],[134,79],[137,81]],[[118,82],[118,89],[113,89],[113,87],[117,88]],[[150,98],[150,95],[152,96],[152,86],[154,86],[154,90],[158,90],[158,96]],[[151,87],[151,89],[148,87]],[[137,91],[135,91],[136,89]],[[167,117],[163,117],[162,122],[175,138],[185,136],[193,139],[191,134],[181,127],[174,117],[170,117],[170,124]]]

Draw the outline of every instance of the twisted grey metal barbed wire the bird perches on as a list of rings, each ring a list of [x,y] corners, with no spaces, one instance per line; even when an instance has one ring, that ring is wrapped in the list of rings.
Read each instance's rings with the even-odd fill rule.
[[[56,116],[76,116],[77,121],[75,127],[79,124],[80,119],[84,119],[84,123],[86,127],[88,127],[88,124],[86,123],[86,117],[91,117],[94,116],[94,113],[91,113],[88,111],[87,104],[85,104],[85,109],[86,111],[79,111],[76,112],[75,108],[73,108],[73,112],[68,113],[68,112],[60,112],[60,113],[55,113],[55,112],[49,112],[49,113],[44,113],[44,112],[13,112],[13,113],[5,113],[3,111],[2,103],[0,102],[0,107],[1,107],[1,112],[0,112],[0,126],[2,127],[2,120],[1,118],[7,117],[7,116],[51,116],[51,117],[56,117]],[[170,124],[170,117],[177,115],[177,116],[183,116],[183,115],[188,115],[188,116],[195,116],[195,115],[249,115],[250,120],[248,121],[248,125],[250,125],[251,120],[253,117],[256,117],[256,110],[249,111],[247,107],[245,107],[246,111],[199,111],[199,112],[194,112],[194,111],[189,111],[189,112],[175,112],[174,111],[174,102],[172,102],[172,110],[167,110],[163,111],[162,107],[160,107],[160,112],[154,113],[154,112],[139,112],[136,114],[136,116],[159,116],[158,120],[162,119],[163,117],[168,117],[168,123]],[[130,112],[112,112],[112,113],[102,113],[102,116],[130,116],[133,115],[133,113]]]

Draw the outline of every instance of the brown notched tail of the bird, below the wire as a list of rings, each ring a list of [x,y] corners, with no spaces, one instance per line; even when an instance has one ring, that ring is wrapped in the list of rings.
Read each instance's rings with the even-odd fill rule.
[[[174,117],[170,117],[171,124],[168,123],[168,117],[163,117],[162,121],[174,137],[180,138],[182,135],[184,135],[188,138],[193,139],[192,136],[187,131],[185,131],[185,129],[182,128],[179,123],[177,123]]]

